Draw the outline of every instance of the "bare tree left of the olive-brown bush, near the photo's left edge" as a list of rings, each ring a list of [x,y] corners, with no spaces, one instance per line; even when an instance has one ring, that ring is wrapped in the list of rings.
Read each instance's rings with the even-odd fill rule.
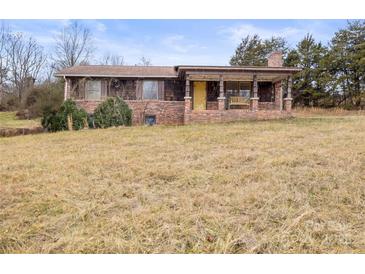
[[[45,62],[43,48],[33,38],[25,38],[21,33],[9,37],[7,49],[10,65],[10,81],[19,100],[23,93],[37,79],[39,71]]]

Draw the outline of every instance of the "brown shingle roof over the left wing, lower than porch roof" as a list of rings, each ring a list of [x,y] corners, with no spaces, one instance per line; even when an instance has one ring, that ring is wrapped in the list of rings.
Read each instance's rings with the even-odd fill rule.
[[[55,76],[95,76],[95,77],[177,77],[174,67],[164,66],[74,66],[65,68]]]

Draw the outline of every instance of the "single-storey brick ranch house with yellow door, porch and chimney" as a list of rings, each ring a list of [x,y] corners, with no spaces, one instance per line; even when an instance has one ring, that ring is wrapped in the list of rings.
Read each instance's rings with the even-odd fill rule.
[[[120,96],[132,123],[189,124],[291,116],[292,75],[274,52],[268,66],[74,66],[65,79],[65,99],[93,112],[106,97]]]

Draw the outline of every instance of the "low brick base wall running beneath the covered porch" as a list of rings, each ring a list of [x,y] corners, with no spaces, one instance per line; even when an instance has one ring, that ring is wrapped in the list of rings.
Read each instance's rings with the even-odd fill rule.
[[[205,110],[191,111],[185,114],[185,123],[217,123],[217,122],[232,122],[240,120],[271,120],[289,118],[292,115],[285,111],[279,110],[262,110],[252,112],[249,110]]]

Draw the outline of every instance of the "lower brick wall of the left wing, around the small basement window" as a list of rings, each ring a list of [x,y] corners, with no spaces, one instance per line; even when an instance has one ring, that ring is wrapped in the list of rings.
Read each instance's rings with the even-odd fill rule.
[[[133,112],[133,125],[144,124],[145,115],[156,115],[156,123],[181,125],[184,123],[184,101],[125,100]],[[101,101],[76,101],[77,105],[92,113]]]

